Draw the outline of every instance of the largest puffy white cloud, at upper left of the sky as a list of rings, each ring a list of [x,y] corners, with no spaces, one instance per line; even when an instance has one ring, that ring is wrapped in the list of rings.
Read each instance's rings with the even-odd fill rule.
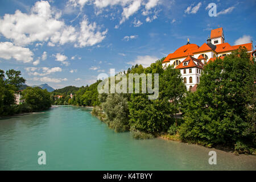
[[[84,1],[77,2],[82,5]],[[60,20],[60,11],[52,9],[48,1],[36,2],[30,12],[26,14],[16,10],[15,14],[5,14],[0,18],[0,33],[17,46],[48,42],[47,45],[53,47],[56,44],[79,42],[83,38],[81,35],[84,33],[88,35],[89,32],[92,38],[82,39],[82,43],[79,43],[79,47],[85,47],[100,43],[107,32],[100,32],[96,23],[89,23],[87,19],[80,23],[81,27],[68,26]],[[39,46],[40,43],[37,45]]]

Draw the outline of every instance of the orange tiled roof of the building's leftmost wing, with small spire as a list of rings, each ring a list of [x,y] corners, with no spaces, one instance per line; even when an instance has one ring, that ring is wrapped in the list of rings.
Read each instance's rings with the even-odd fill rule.
[[[196,44],[187,44],[185,46],[181,46],[174,53],[170,53],[170,55],[168,55],[166,59],[164,59],[163,63],[179,57],[192,56],[193,52],[195,52],[198,48],[199,46],[197,46]]]

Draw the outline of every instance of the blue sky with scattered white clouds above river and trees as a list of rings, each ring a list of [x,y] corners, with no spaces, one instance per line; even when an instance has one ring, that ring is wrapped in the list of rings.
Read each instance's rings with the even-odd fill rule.
[[[0,0],[0,69],[57,89],[147,67],[188,38],[201,46],[218,26],[231,46],[256,46],[255,7],[255,0]]]

